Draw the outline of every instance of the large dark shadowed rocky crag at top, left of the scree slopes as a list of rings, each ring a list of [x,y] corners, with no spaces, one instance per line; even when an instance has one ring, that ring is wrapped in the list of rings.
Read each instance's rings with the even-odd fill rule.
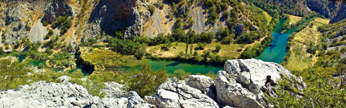
[[[139,36],[150,18],[147,4],[141,0],[100,0],[85,25],[85,35],[94,38],[100,31],[114,33],[124,30],[124,38]]]

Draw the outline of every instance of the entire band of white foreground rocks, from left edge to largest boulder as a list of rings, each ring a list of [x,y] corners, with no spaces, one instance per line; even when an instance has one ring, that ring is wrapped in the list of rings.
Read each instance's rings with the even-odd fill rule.
[[[58,78],[62,83],[44,81],[1,91],[0,107],[116,107],[116,108],[264,108],[272,107],[264,92],[276,96],[272,90],[280,79],[290,78],[306,85],[283,66],[261,60],[228,60],[225,70],[216,80],[202,75],[191,75],[186,83],[176,78],[158,87],[154,96],[140,98],[135,91],[122,90],[122,85],[105,83],[105,98],[91,96],[82,86],[72,84],[70,77]],[[85,79],[84,79],[85,80]]]

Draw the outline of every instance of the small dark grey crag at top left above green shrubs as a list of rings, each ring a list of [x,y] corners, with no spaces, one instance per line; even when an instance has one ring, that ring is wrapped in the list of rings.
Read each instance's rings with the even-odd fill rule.
[[[42,20],[45,20],[48,23],[52,23],[59,16],[63,16],[64,14],[72,16],[72,7],[70,7],[64,0],[53,1],[51,5],[49,5],[45,10],[45,14]]]

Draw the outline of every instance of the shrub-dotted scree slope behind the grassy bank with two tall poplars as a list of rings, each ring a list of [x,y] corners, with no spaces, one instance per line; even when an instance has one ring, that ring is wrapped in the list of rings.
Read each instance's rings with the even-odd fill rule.
[[[179,17],[183,20],[183,29],[185,32],[188,32],[189,29],[194,30],[196,33],[203,31],[217,32],[220,27],[229,27],[229,22],[245,24],[244,31],[247,32],[253,30],[253,26],[259,28],[260,30],[258,31],[267,29],[263,27],[264,22],[262,19],[265,18],[262,14],[263,11],[257,9],[251,3],[247,3],[246,0],[231,3],[230,1],[233,0],[216,0],[212,6],[206,6],[203,0],[192,2],[189,0],[179,2],[164,1],[163,3],[153,1],[152,4],[158,6],[155,5],[157,7],[155,12],[145,23],[143,35],[154,37],[159,33],[172,33],[176,29],[174,25],[177,23],[176,20]],[[161,5],[163,8],[160,7]],[[218,7],[221,7],[221,5],[224,6],[220,8],[221,10],[218,10]],[[212,10],[209,10],[210,7],[213,7],[212,10],[216,12],[212,23],[208,22],[208,18],[210,18],[210,14],[212,13]],[[235,21],[230,21],[230,18],[223,16],[225,12],[228,12],[228,17],[233,17],[230,12],[235,7],[240,9],[240,11],[236,12],[235,18],[237,19]]]

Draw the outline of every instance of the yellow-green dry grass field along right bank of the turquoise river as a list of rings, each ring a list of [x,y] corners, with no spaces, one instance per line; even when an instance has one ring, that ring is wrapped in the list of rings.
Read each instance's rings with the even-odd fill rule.
[[[322,23],[329,22],[327,21],[327,19],[317,18],[315,19],[315,21],[316,20]],[[317,27],[323,25],[322,23],[315,23],[315,25],[313,25],[312,28],[307,26],[305,29],[303,29],[294,36],[294,40],[292,40],[292,45],[290,47],[291,56],[288,58],[288,61],[284,64],[285,68],[289,69],[292,72],[295,72],[296,74],[300,74],[301,76],[303,76],[303,78],[308,76],[308,73],[306,73],[304,70],[306,70],[310,66],[313,66],[318,59],[318,51],[316,52],[316,54],[307,53],[307,49],[309,48],[308,45],[311,42],[314,45],[321,44],[323,36],[322,33],[320,33],[317,30]]]

